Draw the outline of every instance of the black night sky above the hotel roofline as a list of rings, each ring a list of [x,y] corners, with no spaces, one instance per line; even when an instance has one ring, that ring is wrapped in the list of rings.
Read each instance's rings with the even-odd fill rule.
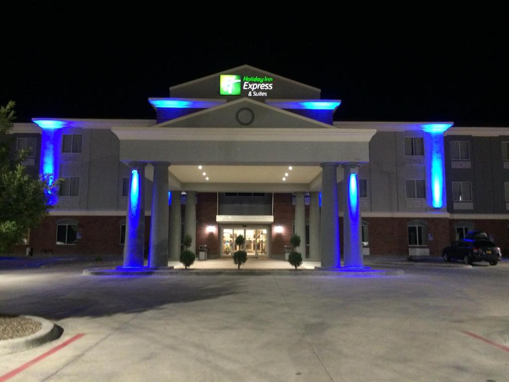
[[[15,100],[18,122],[154,118],[148,97],[248,64],[341,99],[335,120],[509,126],[506,11],[472,9],[456,19],[428,9],[423,21],[419,10],[403,18],[372,10],[373,18],[355,20],[304,12],[230,25],[220,14],[203,20],[152,6],[83,8],[70,17],[55,4],[9,10],[0,25],[0,104]]]

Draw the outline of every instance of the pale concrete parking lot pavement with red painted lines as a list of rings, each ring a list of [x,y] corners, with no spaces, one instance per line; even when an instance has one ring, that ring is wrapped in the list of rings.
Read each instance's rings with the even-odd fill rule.
[[[384,278],[82,270],[2,271],[2,313],[46,317],[64,334],[0,358],[0,380],[47,352],[9,381],[503,381],[509,374],[507,262],[408,267]]]

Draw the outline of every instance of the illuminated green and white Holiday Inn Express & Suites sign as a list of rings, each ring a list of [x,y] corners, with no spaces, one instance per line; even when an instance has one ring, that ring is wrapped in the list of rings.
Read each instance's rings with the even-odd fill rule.
[[[266,76],[221,74],[219,76],[219,94],[241,95],[244,91],[248,97],[267,97],[267,91],[272,90],[273,79]]]

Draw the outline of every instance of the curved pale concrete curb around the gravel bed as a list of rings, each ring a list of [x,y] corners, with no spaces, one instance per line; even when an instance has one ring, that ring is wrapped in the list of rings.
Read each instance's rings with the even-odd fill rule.
[[[42,317],[36,316],[23,316],[23,317],[30,318],[34,321],[40,322],[42,324],[42,328],[37,333],[34,333],[30,336],[0,341],[0,356],[31,349],[33,347],[42,345],[46,342],[56,340],[57,338],[60,338],[60,336],[62,336],[63,329],[60,328],[60,326],[55,325],[53,322],[50,322]]]

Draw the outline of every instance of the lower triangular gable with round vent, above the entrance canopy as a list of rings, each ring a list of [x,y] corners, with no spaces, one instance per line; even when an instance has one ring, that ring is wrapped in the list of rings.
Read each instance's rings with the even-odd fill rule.
[[[334,128],[331,125],[281,110],[263,102],[241,98],[156,127],[215,128]]]

